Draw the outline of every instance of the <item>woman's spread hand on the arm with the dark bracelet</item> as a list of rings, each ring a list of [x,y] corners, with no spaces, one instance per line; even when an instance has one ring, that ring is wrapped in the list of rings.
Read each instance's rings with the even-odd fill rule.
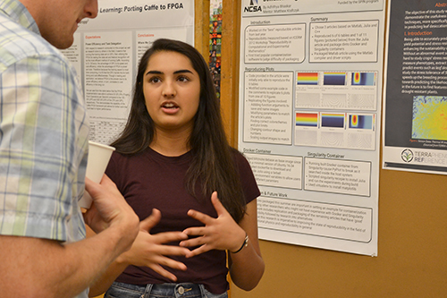
[[[211,202],[217,212],[217,218],[192,209],[188,211],[190,217],[197,219],[205,226],[189,227],[183,231],[183,233],[189,236],[197,236],[197,238],[188,239],[180,243],[180,246],[183,247],[198,246],[197,249],[188,253],[187,258],[211,250],[237,251],[240,249],[240,245],[244,243],[245,231],[223,207],[221,201],[217,198],[217,192],[213,192],[211,195]]]

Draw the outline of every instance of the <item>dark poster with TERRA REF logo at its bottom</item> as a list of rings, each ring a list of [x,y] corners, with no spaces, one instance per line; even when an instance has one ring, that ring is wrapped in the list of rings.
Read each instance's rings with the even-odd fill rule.
[[[447,3],[392,0],[384,169],[447,174]]]

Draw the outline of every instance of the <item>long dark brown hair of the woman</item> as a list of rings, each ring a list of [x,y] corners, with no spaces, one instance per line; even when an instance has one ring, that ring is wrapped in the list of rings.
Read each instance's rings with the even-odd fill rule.
[[[185,186],[195,196],[195,186],[202,184],[202,191],[209,197],[218,192],[223,206],[236,222],[244,216],[246,203],[234,154],[223,130],[220,103],[207,63],[198,50],[172,39],[157,39],[152,47],[141,56],[137,80],[133,89],[131,113],[122,134],[112,143],[117,152],[125,155],[137,154],[154,140],[154,122],[145,104],[143,77],[149,59],[157,52],[177,52],[187,56],[200,78],[198,111],[190,135],[189,147],[192,162],[187,173]]]

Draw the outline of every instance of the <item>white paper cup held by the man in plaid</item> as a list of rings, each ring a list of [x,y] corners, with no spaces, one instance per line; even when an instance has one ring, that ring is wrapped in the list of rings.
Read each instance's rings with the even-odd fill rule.
[[[103,178],[114,148],[89,140],[89,158],[87,159],[86,176],[96,183],[100,183]],[[89,209],[92,199],[89,192],[84,191],[84,195],[79,200],[81,208]]]

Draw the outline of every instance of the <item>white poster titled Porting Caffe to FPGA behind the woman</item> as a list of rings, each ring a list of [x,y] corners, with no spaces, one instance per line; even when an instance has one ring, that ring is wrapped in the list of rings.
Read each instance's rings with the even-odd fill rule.
[[[63,50],[78,72],[89,111],[90,140],[109,144],[131,108],[139,58],[157,38],[194,45],[194,0],[99,0],[72,47]]]

